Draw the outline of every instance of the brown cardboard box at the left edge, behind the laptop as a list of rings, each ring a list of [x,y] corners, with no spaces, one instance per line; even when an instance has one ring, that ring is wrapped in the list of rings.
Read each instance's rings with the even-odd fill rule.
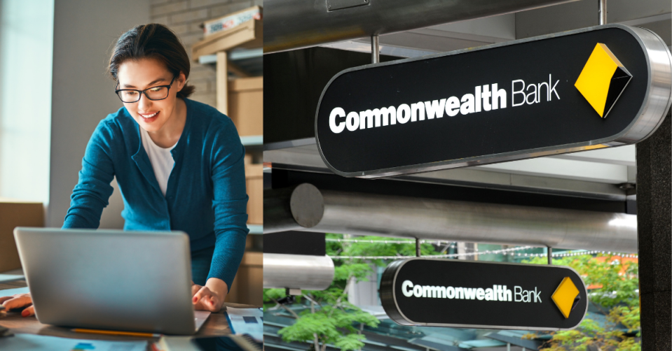
[[[15,227],[44,227],[42,203],[0,199],[0,272],[21,268]]]

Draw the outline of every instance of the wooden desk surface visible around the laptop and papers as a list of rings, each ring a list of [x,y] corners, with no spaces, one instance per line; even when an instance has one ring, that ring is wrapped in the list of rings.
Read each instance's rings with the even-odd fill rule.
[[[17,287],[26,287],[25,280],[15,280],[13,282],[0,283],[0,290],[14,289]],[[1,292],[0,292],[1,294]],[[224,303],[224,306],[231,306],[236,308],[252,308],[254,306],[241,305],[239,303]],[[11,329],[14,333],[28,333],[39,334],[47,336],[60,336],[62,338],[77,338],[89,340],[109,340],[109,341],[138,341],[138,340],[153,340],[158,338],[137,338],[133,336],[108,336],[100,334],[81,334],[70,331],[69,328],[55,327],[49,324],[40,323],[35,316],[21,317],[20,312],[8,312],[6,317],[0,317],[0,325]],[[226,315],[224,311],[219,313],[212,313],[207,318],[205,324],[198,330],[196,336],[217,336],[231,334],[231,329],[226,322]]]

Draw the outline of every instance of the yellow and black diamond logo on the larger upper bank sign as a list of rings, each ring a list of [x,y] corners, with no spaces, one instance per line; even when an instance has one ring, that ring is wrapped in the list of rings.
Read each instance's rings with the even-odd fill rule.
[[[632,75],[607,48],[598,43],[574,86],[600,117],[607,117]]]

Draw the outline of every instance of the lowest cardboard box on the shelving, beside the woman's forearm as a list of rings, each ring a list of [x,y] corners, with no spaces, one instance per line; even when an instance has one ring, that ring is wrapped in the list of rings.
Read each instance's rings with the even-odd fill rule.
[[[245,252],[226,301],[263,305],[263,253]]]

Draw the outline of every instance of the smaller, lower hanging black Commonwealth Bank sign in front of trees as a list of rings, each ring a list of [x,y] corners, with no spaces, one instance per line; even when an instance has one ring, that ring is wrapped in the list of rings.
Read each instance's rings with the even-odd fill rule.
[[[588,310],[572,268],[428,258],[392,262],[380,301],[395,322],[430,327],[566,330]]]

